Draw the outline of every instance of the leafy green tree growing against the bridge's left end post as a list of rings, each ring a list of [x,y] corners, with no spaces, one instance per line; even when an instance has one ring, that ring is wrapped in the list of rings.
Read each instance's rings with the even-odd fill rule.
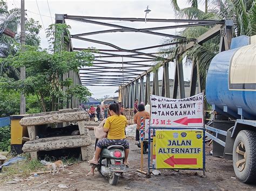
[[[26,95],[36,95],[43,111],[57,110],[65,105],[70,96],[83,99],[91,96],[86,87],[72,87],[72,79],[62,80],[61,76],[70,70],[78,72],[79,67],[91,66],[93,58],[89,51],[49,53],[37,47],[25,46],[24,52],[19,50],[2,61],[15,68],[25,66],[26,79],[12,82],[2,79],[2,86],[5,84]]]

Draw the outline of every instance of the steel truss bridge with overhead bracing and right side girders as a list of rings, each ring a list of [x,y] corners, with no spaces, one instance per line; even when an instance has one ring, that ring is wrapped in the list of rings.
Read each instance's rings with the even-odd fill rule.
[[[136,23],[145,22],[145,18],[117,18],[117,17],[89,17],[89,16],[71,16],[56,14],[56,23],[66,23],[67,20],[75,22],[97,25],[99,27],[110,27],[108,30],[96,30],[92,32],[84,32],[79,34],[71,34],[70,43],[67,45],[68,51],[80,51],[90,49],[95,54],[95,61],[92,67],[80,68],[79,73],[70,71],[63,78],[71,77],[74,84],[83,84],[84,86],[117,86],[119,87],[119,97],[123,105],[127,108],[133,107],[133,102],[138,98],[139,102],[150,104],[150,94],[160,95],[171,98],[185,97],[185,83],[183,62],[180,61],[181,53],[192,48],[194,45],[202,45],[207,40],[215,36],[220,36],[219,51],[225,51],[230,48],[231,38],[233,37],[233,22],[232,20],[191,20],[191,19],[154,19],[149,18],[146,22],[154,22],[159,24],[157,27],[149,27],[137,29],[130,26],[123,26],[116,23],[125,22]],[[114,23],[114,24],[113,24]],[[161,24],[165,23],[164,26]],[[212,26],[203,35],[196,39],[187,39],[169,33],[159,31],[179,29],[194,26]],[[71,25],[72,27],[72,25]],[[153,46],[137,47],[127,49],[112,44],[109,41],[96,40],[96,34],[123,32],[124,38],[127,32],[146,33],[154,36],[169,37],[176,39],[172,43],[157,44]],[[146,35],[145,34],[145,35]],[[95,49],[87,47],[73,47],[72,39],[84,41],[85,44],[93,43]],[[150,38],[149,38],[150,39]],[[127,39],[126,39],[127,40]],[[180,51],[174,58],[159,56],[159,51],[156,48],[182,46]],[[97,48],[97,46],[99,48]],[[102,47],[105,48],[102,48]],[[154,51],[151,51],[154,49]],[[124,61],[129,59],[128,61]],[[157,61],[160,60],[160,61]],[[173,84],[169,80],[169,65],[174,62],[174,79]],[[191,80],[189,86],[189,96],[196,94],[196,89],[200,93],[204,91],[201,87],[201,77],[199,75],[199,63],[192,60]],[[158,70],[163,68],[163,76],[159,88]],[[152,84],[150,75],[153,74]],[[170,86],[172,93],[170,93]],[[69,107],[76,107],[78,101],[71,101]]]

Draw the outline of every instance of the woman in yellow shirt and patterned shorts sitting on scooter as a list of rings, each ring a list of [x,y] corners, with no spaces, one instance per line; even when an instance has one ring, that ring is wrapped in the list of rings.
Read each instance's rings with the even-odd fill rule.
[[[118,103],[113,103],[109,107],[110,117],[106,119],[103,126],[104,132],[107,132],[107,138],[100,139],[96,146],[95,158],[89,160],[92,164],[98,164],[99,155],[103,147],[110,145],[122,145],[124,147],[125,158],[124,165],[129,164],[127,158],[129,155],[129,143],[125,137],[125,128],[127,119],[125,116],[120,115]]]

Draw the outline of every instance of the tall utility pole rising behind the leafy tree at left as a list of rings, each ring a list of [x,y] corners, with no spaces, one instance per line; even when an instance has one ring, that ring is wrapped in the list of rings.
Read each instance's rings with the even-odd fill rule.
[[[24,51],[25,45],[25,0],[21,0],[21,46],[22,51]],[[26,78],[26,68],[21,67],[21,80]],[[20,105],[20,114],[26,113],[26,98],[24,93],[21,93],[21,105]]]

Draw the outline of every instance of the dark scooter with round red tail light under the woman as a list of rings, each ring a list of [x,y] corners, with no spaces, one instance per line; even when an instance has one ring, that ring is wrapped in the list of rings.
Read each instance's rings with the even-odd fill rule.
[[[117,185],[119,176],[126,172],[124,147],[111,145],[104,147],[100,153],[99,165],[96,165],[100,174],[109,178],[110,185]]]

